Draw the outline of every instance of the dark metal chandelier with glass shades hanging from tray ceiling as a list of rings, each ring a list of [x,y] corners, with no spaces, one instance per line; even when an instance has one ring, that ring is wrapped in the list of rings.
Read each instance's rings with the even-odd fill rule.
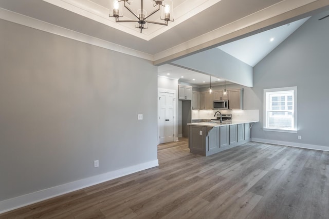
[[[140,9],[137,10],[137,13],[134,13],[132,9],[128,7],[131,5],[134,0],[110,0],[111,7],[109,9],[109,16],[115,17],[115,22],[137,22],[135,25],[136,28],[140,29],[142,32],[143,29],[148,29],[147,23],[166,25],[168,26],[168,22],[173,22],[173,1],[172,0],[148,0],[153,4],[154,11],[152,11],[149,15],[147,11],[143,8],[143,1],[140,0]],[[123,4],[122,4],[123,2]],[[136,0],[137,2],[137,0]],[[129,19],[119,19],[119,17],[123,17],[123,7],[125,7],[130,13],[132,13],[137,19],[129,20]],[[163,20],[163,23],[150,21],[148,18],[160,11],[160,19]]]

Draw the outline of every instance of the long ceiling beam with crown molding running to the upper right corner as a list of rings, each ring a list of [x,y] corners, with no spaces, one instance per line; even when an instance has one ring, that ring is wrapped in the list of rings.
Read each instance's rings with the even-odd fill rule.
[[[293,22],[329,6],[327,0],[282,1],[235,22],[210,31],[165,51],[154,54],[154,65],[162,65],[200,51]]]

